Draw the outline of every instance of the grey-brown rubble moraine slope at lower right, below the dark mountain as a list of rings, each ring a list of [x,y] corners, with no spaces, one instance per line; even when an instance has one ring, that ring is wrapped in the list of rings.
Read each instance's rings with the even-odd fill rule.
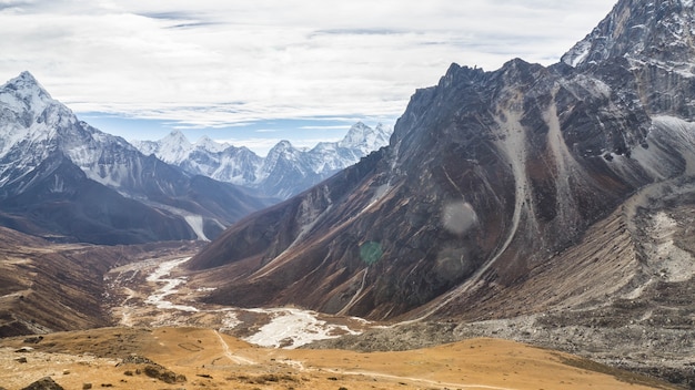
[[[692,183],[645,187],[512,288],[492,286],[467,299],[455,308],[459,316],[405,321],[314,348],[400,350],[498,337],[695,389],[691,189]]]

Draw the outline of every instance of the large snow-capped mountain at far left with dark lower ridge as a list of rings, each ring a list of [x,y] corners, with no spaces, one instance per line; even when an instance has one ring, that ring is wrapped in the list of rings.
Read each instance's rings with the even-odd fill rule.
[[[269,203],[81,122],[29,73],[0,86],[0,224],[58,240],[207,239]]]

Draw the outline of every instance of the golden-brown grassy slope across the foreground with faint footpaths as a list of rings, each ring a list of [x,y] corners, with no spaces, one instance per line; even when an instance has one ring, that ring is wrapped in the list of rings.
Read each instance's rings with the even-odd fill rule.
[[[571,355],[473,339],[401,352],[276,350],[198,328],[105,328],[0,340],[0,386],[20,389],[51,376],[66,389],[667,389]],[[130,363],[118,358],[137,353]],[[27,363],[14,361],[26,357]],[[165,383],[147,372],[171,371]],[[175,378],[175,377],[172,377]]]

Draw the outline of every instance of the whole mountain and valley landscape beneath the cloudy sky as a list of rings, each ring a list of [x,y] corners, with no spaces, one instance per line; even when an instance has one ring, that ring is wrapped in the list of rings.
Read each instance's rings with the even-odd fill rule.
[[[131,144],[0,86],[0,390],[695,389],[695,3],[393,127]],[[310,129],[308,129],[310,130]]]

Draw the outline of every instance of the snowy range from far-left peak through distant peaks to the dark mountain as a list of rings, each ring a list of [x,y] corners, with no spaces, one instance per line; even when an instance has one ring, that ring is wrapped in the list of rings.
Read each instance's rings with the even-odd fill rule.
[[[159,142],[79,121],[29,72],[0,86],[0,226],[93,244],[214,238],[387,143],[357,123],[311,150],[283,141],[265,158],[173,132]]]

